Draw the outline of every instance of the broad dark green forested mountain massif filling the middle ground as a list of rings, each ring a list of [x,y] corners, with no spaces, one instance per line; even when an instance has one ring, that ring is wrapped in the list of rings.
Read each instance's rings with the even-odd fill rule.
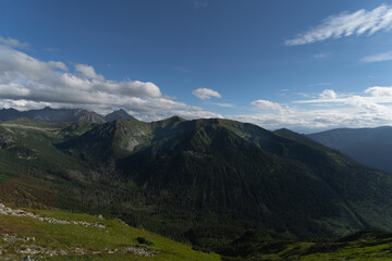
[[[0,200],[102,213],[220,251],[246,231],[392,228],[391,175],[287,129],[173,116],[0,123]]]

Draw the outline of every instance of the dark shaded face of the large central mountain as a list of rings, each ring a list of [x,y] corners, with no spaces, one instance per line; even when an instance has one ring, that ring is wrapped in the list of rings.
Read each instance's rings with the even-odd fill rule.
[[[199,231],[195,241],[208,245],[245,226],[302,237],[392,227],[382,214],[391,212],[391,178],[301,135],[226,120],[172,117],[144,123],[148,130],[137,132],[139,144],[127,153],[88,148],[91,140],[101,148],[134,140],[135,126],[127,124],[120,121],[107,130],[102,125],[62,148],[99,159],[97,164],[110,157],[119,178],[142,189],[152,209],[148,219],[175,224],[183,216]],[[200,226],[221,231],[209,235]]]

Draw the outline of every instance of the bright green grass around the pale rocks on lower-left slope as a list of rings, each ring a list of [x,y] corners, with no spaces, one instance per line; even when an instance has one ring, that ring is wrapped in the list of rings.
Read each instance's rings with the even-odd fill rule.
[[[215,253],[198,252],[192,247],[170,240],[162,236],[149,233],[144,229],[134,228],[124,225],[118,220],[101,220],[87,214],[74,214],[57,210],[27,210],[40,216],[51,216],[58,220],[68,221],[87,221],[91,223],[101,223],[107,226],[105,229],[95,227],[84,227],[82,225],[62,225],[40,222],[27,216],[8,216],[0,215],[0,233],[14,235],[17,238],[35,237],[35,241],[16,241],[8,244],[0,240],[3,258],[21,259],[25,254],[16,253],[17,249],[32,245],[45,247],[47,250],[63,249],[72,250],[75,248],[88,251],[100,251],[103,249],[113,250],[124,247],[139,246],[149,251],[158,251],[155,257],[140,257],[133,253],[100,253],[100,254],[71,254],[58,257],[44,257],[39,260],[220,260]],[[0,235],[1,237],[1,235]],[[139,244],[136,238],[143,237],[150,244]],[[24,245],[24,246],[23,246]],[[4,253],[7,250],[7,254]],[[0,260],[2,260],[0,256]]]

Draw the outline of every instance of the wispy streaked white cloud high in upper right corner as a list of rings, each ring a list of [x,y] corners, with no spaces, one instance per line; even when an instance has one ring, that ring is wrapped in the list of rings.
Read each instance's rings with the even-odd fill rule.
[[[355,13],[343,12],[339,15],[332,15],[307,32],[285,41],[287,46],[299,46],[323,41],[327,39],[336,39],[341,37],[363,35],[369,36],[379,30],[389,32],[392,29],[392,7],[382,4],[371,11],[364,9]]]

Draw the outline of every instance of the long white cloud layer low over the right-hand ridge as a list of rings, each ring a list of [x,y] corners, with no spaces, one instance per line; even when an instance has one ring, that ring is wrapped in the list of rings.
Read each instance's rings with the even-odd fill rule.
[[[252,104],[261,111],[229,117],[269,129],[287,127],[307,133],[333,127],[392,125],[392,86],[373,86],[356,95],[324,89],[309,99],[294,100],[290,107],[267,100]]]

